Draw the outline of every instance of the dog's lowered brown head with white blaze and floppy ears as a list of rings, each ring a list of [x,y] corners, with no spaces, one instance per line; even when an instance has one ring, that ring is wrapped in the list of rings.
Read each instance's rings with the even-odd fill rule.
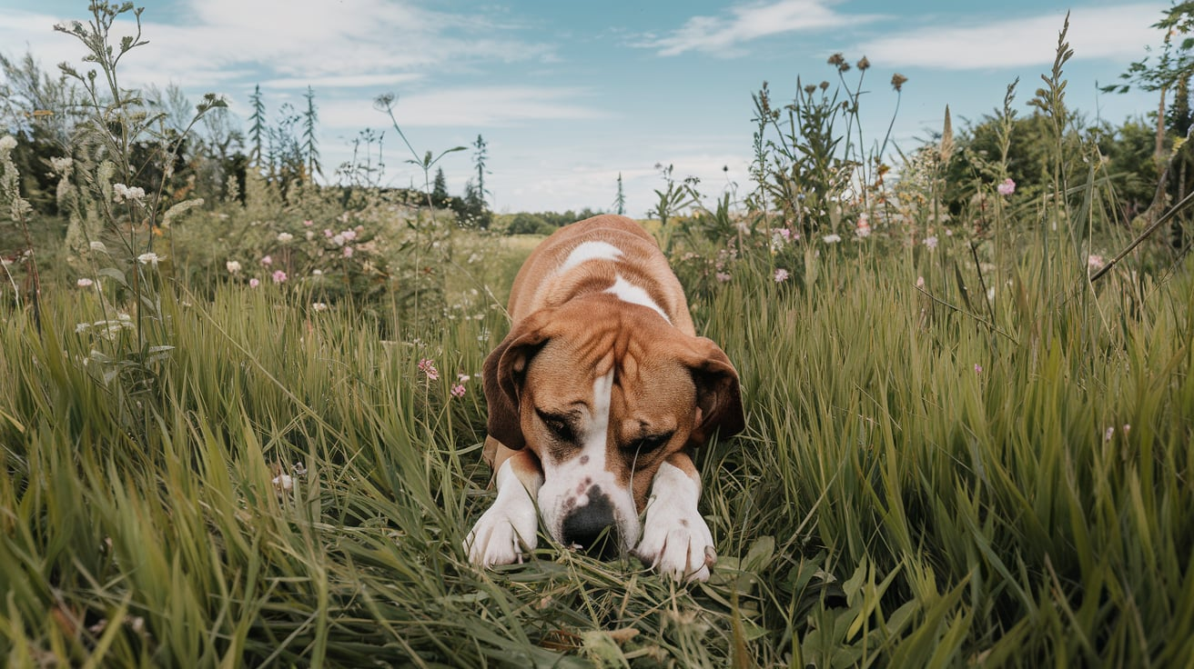
[[[713,341],[614,296],[524,318],[484,376],[490,435],[542,464],[538,507],[552,537],[607,557],[638,541],[669,456],[744,425],[738,372]]]

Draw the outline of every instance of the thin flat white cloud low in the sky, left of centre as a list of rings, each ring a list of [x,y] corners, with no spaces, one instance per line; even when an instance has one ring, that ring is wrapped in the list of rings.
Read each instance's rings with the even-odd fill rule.
[[[394,116],[402,128],[490,128],[549,119],[607,118],[607,112],[579,104],[578,100],[591,95],[584,88],[447,88],[400,97],[394,104]],[[370,100],[321,101],[319,117],[333,129],[389,125],[389,118],[374,109]]]

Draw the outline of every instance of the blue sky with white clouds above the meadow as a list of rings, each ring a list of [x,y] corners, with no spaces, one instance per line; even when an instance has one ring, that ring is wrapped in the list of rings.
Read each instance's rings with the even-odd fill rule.
[[[882,137],[909,78],[894,138],[911,148],[941,128],[1002,104],[1021,80],[1017,107],[1050,69],[1066,10],[1072,107],[1121,122],[1156,109],[1152,94],[1097,93],[1156,45],[1149,27],[1169,4],[1101,0],[755,0],[687,2],[500,0],[147,0],[149,45],[131,51],[127,85],[177,83],[193,99],[226,94],[247,116],[260,85],[270,114],[315,89],[320,149],[331,168],[365,128],[388,130],[371,104],[399,95],[395,112],[414,148],[490,145],[487,187],[498,211],[610,209],[621,173],[628,213],[642,216],[660,184],[656,163],[696,175],[715,196],[750,187],[751,93],[763,81],[788,101],[804,82],[836,80],[841,51],[872,63],[864,141]],[[81,45],[54,32],[86,19],[86,0],[0,0],[0,50],[26,48],[53,67],[80,66]],[[127,30],[127,29],[125,29]],[[855,72],[848,74],[853,82]],[[387,181],[420,180],[390,130]],[[470,175],[469,154],[444,159],[449,187]],[[722,171],[727,167],[728,171]],[[331,169],[328,169],[331,172]]]

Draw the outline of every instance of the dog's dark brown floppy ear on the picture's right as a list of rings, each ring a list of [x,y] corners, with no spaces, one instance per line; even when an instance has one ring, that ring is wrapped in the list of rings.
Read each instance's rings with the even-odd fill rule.
[[[693,371],[696,384],[698,419],[689,436],[690,446],[702,446],[716,432],[721,439],[738,434],[746,427],[743,415],[741,389],[738,371],[713,340],[694,337],[683,361]]]

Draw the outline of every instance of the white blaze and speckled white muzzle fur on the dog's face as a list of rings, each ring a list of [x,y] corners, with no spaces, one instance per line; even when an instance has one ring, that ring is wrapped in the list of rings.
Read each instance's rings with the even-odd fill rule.
[[[580,451],[570,458],[553,462],[542,459],[543,487],[538,489],[538,508],[543,525],[555,540],[562,540],[564,519],[576,507],[589,504],[589,493],[595,487],[614,507],[623,547],[630,549],[639,540],[639,514],[630,491],[622,488],[613,472],[605,471],[605,442],[609,435],[609,410],[614,391],[614,372],[593,382],[592,413],[581,434]],[[568,501],[571,500],[571,504]]]

